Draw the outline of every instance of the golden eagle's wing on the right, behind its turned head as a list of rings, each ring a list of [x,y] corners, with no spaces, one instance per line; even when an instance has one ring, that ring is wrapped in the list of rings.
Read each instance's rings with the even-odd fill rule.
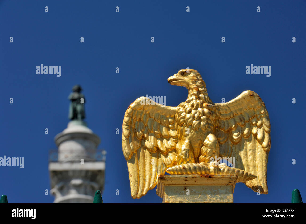
[[[220,157],[235,158],[236,168],[256,175],[244,182],[261,194],[268,193],[267,163],[271,148],[270,119],[262,99],[253,91],[244,91],[226,103],[216,103],[216,137]]]

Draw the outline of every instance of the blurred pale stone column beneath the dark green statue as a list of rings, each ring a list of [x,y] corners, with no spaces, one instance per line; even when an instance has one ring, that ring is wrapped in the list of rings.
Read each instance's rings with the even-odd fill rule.
[[[92,203],[95,191],[102,192],[104,185],[105,160],[96,158],[100,138],[84,121],[72,120],[54,141],[58,161],[49,162],[54,202]]]

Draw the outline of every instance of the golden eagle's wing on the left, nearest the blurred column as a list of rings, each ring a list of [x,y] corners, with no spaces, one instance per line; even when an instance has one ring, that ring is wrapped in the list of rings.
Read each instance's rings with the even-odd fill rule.
[[[176,163],[176,109],[140,97],[125,112],[122,150],[129,169],[132,198],[140,198],[154,188],[159,174]]]

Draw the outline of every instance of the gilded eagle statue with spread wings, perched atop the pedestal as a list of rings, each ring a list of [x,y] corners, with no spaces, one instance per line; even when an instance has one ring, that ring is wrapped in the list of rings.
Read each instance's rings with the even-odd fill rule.
[[[237,174],[237,182],[267,194],[271,126],[259,95],[244,91],[229,102],[213,103],[193,69],[178,71],[168,82],[188,89],[185,102],[169,107],[140,97],[125,112],[122,150],[132,198],[154,188],[165,172]],[[218,164],[216,157],[235,158],[235,167]]]

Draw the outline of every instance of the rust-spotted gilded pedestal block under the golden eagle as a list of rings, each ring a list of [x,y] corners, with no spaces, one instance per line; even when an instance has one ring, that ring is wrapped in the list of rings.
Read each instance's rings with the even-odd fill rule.
[[[237,175],[159,175],[156,194],[163,203],[232,203]]]

